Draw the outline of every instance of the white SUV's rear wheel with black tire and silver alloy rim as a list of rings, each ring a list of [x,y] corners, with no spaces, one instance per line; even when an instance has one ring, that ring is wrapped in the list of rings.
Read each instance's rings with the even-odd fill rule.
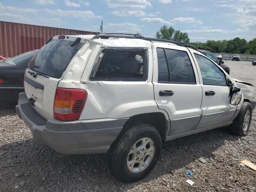
[[[162,139],[156,128],[139,122],[110,147],[108,164],[119,180],[135,182],[154,168],[161,149]]]

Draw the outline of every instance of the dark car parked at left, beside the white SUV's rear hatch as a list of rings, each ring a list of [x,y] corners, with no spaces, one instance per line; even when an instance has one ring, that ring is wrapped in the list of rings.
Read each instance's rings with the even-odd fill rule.
[[[24,92],[24,74],[28,63],[38,50],[29,51],[0,61],[0,100],[17,102]]]

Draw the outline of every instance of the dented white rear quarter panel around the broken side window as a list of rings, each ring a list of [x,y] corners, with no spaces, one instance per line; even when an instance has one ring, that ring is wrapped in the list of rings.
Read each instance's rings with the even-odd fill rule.
[[[144,40],[115,39],[115,40],[89,40],[93,46],[90,56],[84,50],[84,54],[89,56],[77,62],[74,65],[80,65],[80,62],[87,62],[85,70],[81,70],[82,76],[80,81],[68,74],[60,82],[60,85],[70,88],[82,88],[87,91],[88,96],[80,120],[97,119],[97,118],[127,118],[136,114],[150,112],[162,112],[166,119],[168,114],[160,110],[154,100],[154,87],[152,84],[153,66],[148,65],[148,78],[146,81],[96,81],[90,80],[90,74],[94,63],[98,57],[101,47],[144,47],[148,49],[148,63],[153,63],[151,42]],[[90,46],[89,46],[90,47]],[[76,56],[81,57],[82,56]],[[78,60],[80,58],[76,58]],[[73,66],[74,68],[75,66]],[[72,68],[70,65],[69,68]],[[80,72],[79,72],[80,73]],[[78,76],[78,74],[76,75]],[[75,80],[76,79],[76,80]],[[70,82],[68,84],[68,82]]]

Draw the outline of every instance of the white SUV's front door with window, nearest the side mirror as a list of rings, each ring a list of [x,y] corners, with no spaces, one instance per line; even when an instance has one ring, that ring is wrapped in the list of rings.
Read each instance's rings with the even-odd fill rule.
[[[212,60],[193,53],[198,71],[201,73],[200,81],[203,89],[201,108],[202,118],[197,128],[206,128],[228,122],[236,112],[237,106],[230,104],[230,87],[227,84],[223,70]]]

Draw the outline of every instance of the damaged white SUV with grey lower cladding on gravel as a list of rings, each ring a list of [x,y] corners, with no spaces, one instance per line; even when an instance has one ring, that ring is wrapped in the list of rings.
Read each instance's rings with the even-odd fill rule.
[[[60,35],[34,56],[16,110],[38,144],[108,152],[124,182],[144,178],[162,142],[230,126],[246,136],[252,107],[220,66],[188,44],[140,35]]]

